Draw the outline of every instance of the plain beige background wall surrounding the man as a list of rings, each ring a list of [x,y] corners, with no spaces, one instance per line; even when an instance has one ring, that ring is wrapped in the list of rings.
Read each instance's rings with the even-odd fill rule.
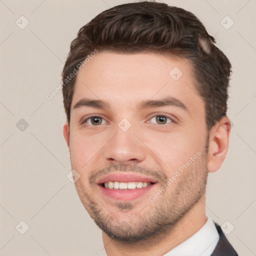
[[[46,94],[60,83],[78,29],[104,9],[126,2],[0,0],[1,256],[105,255],[101,231],[66,177],[70,163],[62,136],[62,95],[48,100]],[[222,167],[209,175],[206,210],[227,231],[234,226],[227,237],[239,255],[256,255],[256,1],[165,2],[192,11],[232,63],[230,148]],[[24,29],[15,24],[25,24],[21,15],[29,21]],[[234,21],[229,29],[221,24],[226,15]],[[231,19],[222,22],[229,26]],[[29,226],[23,235],[17,231],[25,228],[21,220]]]

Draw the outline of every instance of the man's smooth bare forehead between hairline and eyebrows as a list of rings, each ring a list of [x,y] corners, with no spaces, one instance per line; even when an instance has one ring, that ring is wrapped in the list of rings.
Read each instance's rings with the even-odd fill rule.
[[[156,53],[103,51],[78,71],[72,106],[83,97],[103,99],[120,108],[128,103],[129,107],[135,106],[141,99],[163,96],[202,103],[187,59]]]

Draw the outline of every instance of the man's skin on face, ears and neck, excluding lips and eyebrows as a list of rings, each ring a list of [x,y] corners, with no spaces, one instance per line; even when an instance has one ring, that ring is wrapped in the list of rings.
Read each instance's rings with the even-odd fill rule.
[[[169,75],[174,67],[182,71],[178,80]],[[141,100],[166,96],[175,97],[187,110],[176,105],[136,107]],[[73,108],[85,97],[102,99],[108,107]],[[92,115],[102,117],[101,124],[87,119]],[[157,115],[168,117],[166,123],[159,122]],[[216,171],[225,158],[230,121],[223,117],[208,131],[204,116],[187,59],[103,51],[78,72],[70,123],[64,124],[63,134],[71,167],[80,175],[75,182],[78,196],[102,229],[107,255],[162,255],[206,222],[207,173]],[[123,118],[131,124],[126,131],[118,126]],[[150,201],[196,152],[199,156]],[[141,197],[117,200],[104,195],[96,184],[111,172],[139,173],[157,182]]]

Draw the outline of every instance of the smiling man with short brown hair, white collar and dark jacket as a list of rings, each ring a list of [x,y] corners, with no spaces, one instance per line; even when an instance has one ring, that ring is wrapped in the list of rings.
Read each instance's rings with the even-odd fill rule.
[[[80,28],[62,71],[78,196],[111,255],[237,255],[205,215],[228,149],[231,64],[203,24],[157,2]]]

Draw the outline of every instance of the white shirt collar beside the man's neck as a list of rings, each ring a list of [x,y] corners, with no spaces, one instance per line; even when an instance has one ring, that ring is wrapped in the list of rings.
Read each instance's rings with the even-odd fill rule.
[[[205,224],[197,232],[163,256],[210,256],[218,239],[219,235],[215,224],[208,217]]]

